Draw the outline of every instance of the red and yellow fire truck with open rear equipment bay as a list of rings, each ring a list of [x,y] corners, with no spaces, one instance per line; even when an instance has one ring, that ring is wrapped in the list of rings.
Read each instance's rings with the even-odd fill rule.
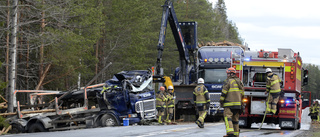
[[[241,62],[242,61],[242,62]],[[281,129],[299,129],[304,105],[310,105],[303,98],[302,86],[308,84],[308,70],[302,67],[302,58],[292,49],[279,48],[278,51],[245,51],[244,58],[234,67],[244,84],[244,112],[239,125],[251,128],[252,123],[261,123],[266,110],[266,68],[281,79],[284,96],[280,97],[276,114],[267,114],[264,123],[279,124]],[[310,96],[310,95],[309,95]],[[303,101],[307,101],[303,102]]]

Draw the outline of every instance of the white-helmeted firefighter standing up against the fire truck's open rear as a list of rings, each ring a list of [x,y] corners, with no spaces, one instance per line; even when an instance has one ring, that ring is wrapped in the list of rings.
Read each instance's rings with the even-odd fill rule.
[[[277,103],[279,101],[280,97],[280,83],[281,79],[278,77],[278,75],[273,74],[272,70],[270,68],[266,69],[267,73],[267,90],[265,94],[268,94],[267,98],[267,107],[266,107],[266,113],[272,113],[275,114],[277,112]]]

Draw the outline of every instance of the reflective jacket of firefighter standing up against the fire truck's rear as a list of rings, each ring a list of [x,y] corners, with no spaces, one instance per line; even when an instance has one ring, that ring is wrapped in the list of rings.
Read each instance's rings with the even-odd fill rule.
[[[268,73],[267,85],[266,85],[267,92],[280,93],[281,91],[280,82],[281,82],[281,79],[279,78],[278,75],[275,75],[273,73]]]

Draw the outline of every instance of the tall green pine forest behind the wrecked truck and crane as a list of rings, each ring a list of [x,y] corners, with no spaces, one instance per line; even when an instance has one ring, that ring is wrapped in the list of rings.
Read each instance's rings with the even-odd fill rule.
[[[19,0],[16,89],[70,90],[86,85],[109,62],[95,83],[122,70],[155,65],[165,0]],[[199,41],[242,43],[226,5],[207,0],[173,0],[179,21],[198,22]],[[11,0],[0,1],[1,94],[6,94],[11,50]],[[179,66],[167,28],[162,66],[166,75]]]

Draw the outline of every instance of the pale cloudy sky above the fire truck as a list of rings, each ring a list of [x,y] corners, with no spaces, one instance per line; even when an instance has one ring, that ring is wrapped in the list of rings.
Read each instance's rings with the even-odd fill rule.
[[[208,0],[213,7],[218,0]],[[224,0],[251,51],[289,48],[320,65],[320,0]]]

